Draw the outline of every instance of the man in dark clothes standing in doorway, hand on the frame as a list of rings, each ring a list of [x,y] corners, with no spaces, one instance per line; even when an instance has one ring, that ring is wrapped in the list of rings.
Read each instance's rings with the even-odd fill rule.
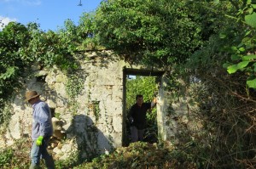
[[[143,95],[136,96],[136,104],[131,106],[129,121],[131,122],[131,142],[143,141],[146,127],[147,111],[154,108],[156,98],[151,103],[143,103]]]

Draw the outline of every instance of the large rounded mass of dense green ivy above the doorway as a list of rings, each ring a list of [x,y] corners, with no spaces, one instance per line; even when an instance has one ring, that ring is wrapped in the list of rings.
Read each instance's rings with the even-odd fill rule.
[[[130,62],[183,62],[201,47],[199,8],[176,0],[106,1],[96,11],[96,37]]]

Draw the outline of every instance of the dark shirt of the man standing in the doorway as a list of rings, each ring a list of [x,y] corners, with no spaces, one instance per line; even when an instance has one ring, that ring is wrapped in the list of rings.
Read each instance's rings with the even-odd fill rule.
[[[151,103],[143,103],[142,106],[133,104],[130,110],[130,116],[133,118],[133,124],[141,130],[146,127],[146,113],[151,108]]]

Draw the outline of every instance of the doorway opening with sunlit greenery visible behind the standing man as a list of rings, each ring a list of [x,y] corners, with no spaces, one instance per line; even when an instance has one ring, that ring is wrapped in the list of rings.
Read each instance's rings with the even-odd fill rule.
[[[123,145],[131,143],[131,121],[128,119],[129,111],[136,104],[137,94],[143,95],[144,103],[151,103],[157,97],[160,89],[161,77],[164,71],[139,70],[124,68],[124,92],[123,92]],[[146,128],[144,131],[144,142],[154,144],[158,142],[158,122],[156,106],[148,110],[146,114]]]

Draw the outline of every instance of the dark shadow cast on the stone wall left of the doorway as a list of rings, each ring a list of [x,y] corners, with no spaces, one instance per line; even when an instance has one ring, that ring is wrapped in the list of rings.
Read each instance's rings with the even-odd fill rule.
[[[73,116],[72,125],[67,129],[67,138],[76,138],[79,160],[82,161],[90,161],[113,150],[113,144],[87,115]]]

